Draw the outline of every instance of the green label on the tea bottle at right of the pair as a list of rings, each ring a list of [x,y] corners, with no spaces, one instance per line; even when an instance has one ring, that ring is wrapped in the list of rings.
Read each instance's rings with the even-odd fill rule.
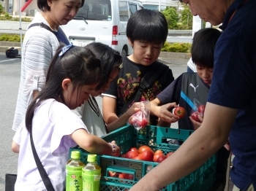
[[[83,169],[83,191],[99,191],[99,182],[101,176],[99,170],[84,170]]]

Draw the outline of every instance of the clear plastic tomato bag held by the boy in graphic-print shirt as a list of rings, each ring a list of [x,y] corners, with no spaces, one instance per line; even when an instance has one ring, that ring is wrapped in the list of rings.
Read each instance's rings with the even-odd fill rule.
[[[150,102],[149,101],[140,101],[139,102],[140,111],[132,114],[129,117],[129,124],[133,125],[135,129],[140,130],[141,128],[145,128],[149,122],[150,116]]]

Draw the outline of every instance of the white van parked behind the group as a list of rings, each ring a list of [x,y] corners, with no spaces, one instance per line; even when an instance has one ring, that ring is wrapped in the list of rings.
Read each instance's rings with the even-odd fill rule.
[[[122,55],[132,54],[127,21],[139,9],[143,4],[136,0],[86,0],[74,19],[61,28],[74,45],[102,42]]]

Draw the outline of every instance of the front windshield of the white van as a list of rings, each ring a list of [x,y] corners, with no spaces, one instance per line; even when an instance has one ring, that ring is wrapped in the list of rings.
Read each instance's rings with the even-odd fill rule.
[[[110,0],[86,0],[74,19],[112,20]]]

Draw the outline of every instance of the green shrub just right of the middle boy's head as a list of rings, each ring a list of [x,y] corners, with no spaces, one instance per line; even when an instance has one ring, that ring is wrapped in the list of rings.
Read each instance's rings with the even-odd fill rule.
[[[175,7],[167,7],[162,14],[165,15],[169,29],[178,28],[178,13]]]

